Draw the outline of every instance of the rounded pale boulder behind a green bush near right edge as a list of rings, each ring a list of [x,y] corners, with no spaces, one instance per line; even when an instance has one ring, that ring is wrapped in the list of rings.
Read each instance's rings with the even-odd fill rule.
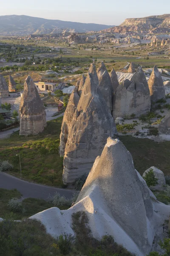
[[[145,175],[150,171],[150,169],[152,169],[155,177],[158,179],[157,180],[158,184],[156,186],[150,186],[150,189],[153,189],[153,190],[164,190],[164,187],[166,185],[164,173],[161,170],[159,170],[158,168],[156,168],[155,166],[151,166],[149,169],[147,169],[144,172],[144,174],[142,175],[142,177],[144,178]]]

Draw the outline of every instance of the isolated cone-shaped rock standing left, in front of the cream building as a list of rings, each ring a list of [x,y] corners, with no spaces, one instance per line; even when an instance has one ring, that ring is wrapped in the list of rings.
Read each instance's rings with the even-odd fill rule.
[[[28,76],[20,102],[20,135],[36,135],[42,132],[46,125],[44,105],[34,81]]]

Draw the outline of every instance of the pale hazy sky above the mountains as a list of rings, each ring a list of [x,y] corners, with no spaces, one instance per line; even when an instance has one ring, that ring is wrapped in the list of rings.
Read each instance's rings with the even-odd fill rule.
[[[119,25],[125,18],[170,13],[170,0],[0,0],[0,15]]]

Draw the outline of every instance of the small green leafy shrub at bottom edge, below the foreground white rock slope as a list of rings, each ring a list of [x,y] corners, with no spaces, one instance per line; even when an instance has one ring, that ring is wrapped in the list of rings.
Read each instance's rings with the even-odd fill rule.
[[[60,250],[60,253],[67,255],[71,252],[72,245],[74,243],[74,236],[71,234],[64,233],[63,235],[57,238],[57,245]]]

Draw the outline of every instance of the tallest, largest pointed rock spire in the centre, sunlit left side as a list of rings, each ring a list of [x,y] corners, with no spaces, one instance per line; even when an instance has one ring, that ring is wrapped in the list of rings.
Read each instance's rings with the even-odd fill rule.
[[[99,90],[95,66],[91,65],[82,95],[68,131],[63,182],[72,183],[90,171],[107,138],[117,134],[116,125]]]

